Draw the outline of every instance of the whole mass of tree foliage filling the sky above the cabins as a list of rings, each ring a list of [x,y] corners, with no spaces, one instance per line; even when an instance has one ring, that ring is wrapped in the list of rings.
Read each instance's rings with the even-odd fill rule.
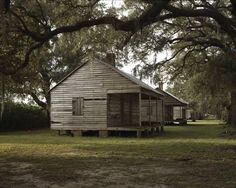
[[[101,0],[15,0],[2,17],[0,71],[5,75],[14,75],[27,66],[45,68],[39,57],[34,63],[35,54],[51,57],[58,50],[58,41],[74,35],[79,44],[75,49],[82,54],[103,56],[108,49],[123,59],[143,62],[136,72],[154,76],[154,81],[163,80],[167,73],[171,75],[167,78],[174,79],[184,72],[196,80],[194,83],[202,81],[199,87],[208,88],[211,94],[223,88],[236,97],[233,0],[125,0],[119,9],[107,7]],[[159,60],[157,54],[163,49],[169,55]],[[49,62],[53,62],[51,67],[55,65],[55,59]],[[214,84],[215,80],[219,84]],[[210,85],[204,87],[206,83]],[[231,110],[231,114],[236,113],[236,107]]]

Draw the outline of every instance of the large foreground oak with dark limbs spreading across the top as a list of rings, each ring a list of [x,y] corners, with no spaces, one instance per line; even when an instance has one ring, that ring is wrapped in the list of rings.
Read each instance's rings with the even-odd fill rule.
[[[30,62],[30,54],[35,49],[59,34],[80,32],[95,26],[106,28],[104,25],[110,25],[116,31],[123,32],[122,38],[126,38],[124,44],[130,42],[133,45],[131,49],[134,49],[135,45],[142,46],[143,50],[149,51],[147,55],[163,48],[172,49],[172,56],[165,61],[155,62],[154,69],[180,54],[183,54],[181,67],[185,67],[187,66],[185,60],[191,57],[193,52],[198,53],[202,61],[205,56],[209,57],[213,52],[221,53],[227,56],[229,62],[232,62],[232,67],[235,67],[235,1],[141,0],[132,2],[126,0],[125,2],[124,9],[128,15],[122,16],[107,14],[99,0],[45,1],[44,3],[22,1],[21,4],[16,1],[12,4],[9,17],[12,19],[11,23],[16,25],[17,35],[28,42],[26,45],[19,44],[19,47],[24,46],[22,53],[25,55],[13,59],[14,62],[18,62],[17,66],[5,69],[9,64],[1,63],[3,67],[1,71],[4,74],[14,74],[24,68]],[[138,11],[132,9],[138,5],[141,7]],[[34,12],[35,7],[39,10],[37,14]],[[132,43],[140,35],[141,40]],[[17,55],[15,54],[16,57]],[[198,61],[194,63],[199,64]],[[176,72],[181,70],[181,67]],[[229,85],[233,84],[230,83],[231,81],[228,82]],[[230,92],[232,123],[236,124],[235,88]]]

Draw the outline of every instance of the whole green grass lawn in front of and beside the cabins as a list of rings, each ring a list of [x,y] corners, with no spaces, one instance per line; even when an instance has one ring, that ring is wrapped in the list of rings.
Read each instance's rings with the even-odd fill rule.
[[[236,187],[236,139],[219,121],[154,138],[0,133],[0,187]]]

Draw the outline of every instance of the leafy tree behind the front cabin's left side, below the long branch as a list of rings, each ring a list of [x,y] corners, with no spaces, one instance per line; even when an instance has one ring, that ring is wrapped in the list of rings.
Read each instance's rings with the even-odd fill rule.
[[[30,4],[26,3],[26,6],[30,6]],[[40,4],[40,7],[43,8],[43,5]],[[24,19],[29,26],[37,27],[39,22],[43,22],[43,19],[46,18],[38,15],[41,15],[41,9],[38,10],[34,6],[32,8],[32,12],[27,12]],[[24,7],[19,7],[19,10],[26,12]],[[58,11],[58,14],[61,14],[60,11]],[[32,20],[28,17],[32,18]],[[53,16],[50,19],[53,19]],[[55,23],[59,24],[56,19]],[[52,27],[51,24],[48,24],[48,27]],[[79,66],[86,57],[99,55],[99,53],[107,51],[109,46],[111,46],[110,50],[114,50],[112,47],[114,42],[109,39],[111,37],[115,39],[115,36],[117,36],[116,33],[106,32],[108,31],[107,29],[93,28],[89,31],[81,31],[80,35],[70,33],[54,37],[48,42],[44,42],[44,45],[40,44],[41,48],[36,48],[32,53],[30,52],[31,58],[27,57],[27,61],[30,61],[30,64],[25,69],[21,69],[22,65],[25,66],[24,63],[20,66],[17,63],[22,58],[22,54],[24,54],[25,44],[28,44],[29,41],[32,44],[34,42],[25,36],[25,41],[27,42],[24,43],[23,38],[21,40],[21,32],[9,32],[17,28],[8,25],[7,19],[2,22],[2,25],[3,27],[0,31],[2,32],[1,40],[4,44],[2,46],[2,60],[4,61],[0,62],[0,65],[2,65],[0,70],[6,75],[12,74],[17,70],[11,76],[14,83],[11,84],[10,92],[23,97],[30,95],[36,104],[47,110],[48,115],[50,110],[50,95],[48,91],[52,84],[58,82],[75,67]],[[5,27],[6,25],[7,27]],[[4,48],[6,48],[5,51]]]

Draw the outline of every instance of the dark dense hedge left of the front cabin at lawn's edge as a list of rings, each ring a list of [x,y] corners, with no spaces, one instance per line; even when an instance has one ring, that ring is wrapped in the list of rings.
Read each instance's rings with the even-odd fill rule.
[[[0,131],[31,130],[49,127],[47,113],[28,104],[7,102],[0,120]]]

